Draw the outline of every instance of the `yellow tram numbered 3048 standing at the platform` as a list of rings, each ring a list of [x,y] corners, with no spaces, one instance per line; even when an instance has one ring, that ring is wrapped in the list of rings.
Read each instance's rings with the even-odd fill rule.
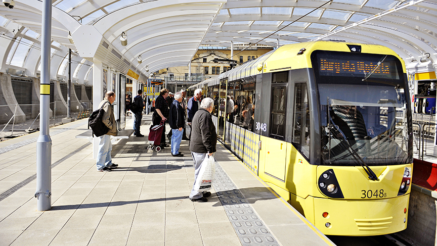
[[[407,227],[411,107],[405,64],[389,48],[284,45],[196,88],[214,99],[224,144],[324,234]]]

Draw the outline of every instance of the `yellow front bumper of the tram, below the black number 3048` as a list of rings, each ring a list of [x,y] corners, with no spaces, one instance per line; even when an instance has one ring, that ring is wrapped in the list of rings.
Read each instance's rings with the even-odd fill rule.
[[[407,228],[409,198],[409,193],[380,200],[314,198],[314,224],[326,235],[395,233]],[[326,218],[323,216],[325,212],[328,213]]]

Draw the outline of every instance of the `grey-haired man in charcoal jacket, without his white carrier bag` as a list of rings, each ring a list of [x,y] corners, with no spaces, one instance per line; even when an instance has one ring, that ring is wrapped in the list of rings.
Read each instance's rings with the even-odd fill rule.
[[[195,167],[194,180],[197,179],[201,164],[206,158],[206,155],[212,156],[212,153],[216,151],[215,145],[217,144],[217,133],[211,117],[213,108],[214,101],[209,97],[206,97],[202,100],[199,110],[193,117],[190,151]],[[193,189],[190,193],[190,200],[193,202],[207,202],[208,199],[206,198],[211,195],[211,192],[198,192],[194,190],[195,184],[196,181],[194,181]]]

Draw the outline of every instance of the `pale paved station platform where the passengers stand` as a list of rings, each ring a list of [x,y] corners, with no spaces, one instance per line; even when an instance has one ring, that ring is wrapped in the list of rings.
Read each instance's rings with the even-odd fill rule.
[[[92,144],[75,138],[87,123],[50,129],[50,211],[34,198],[39,132],[0,142],[0,245],[334,245],[220,143],[212,195],[191,202],[188,141],[182,158],[147,150],[145,115],[145,137],[115,142],[118,168],[97,172]]]

